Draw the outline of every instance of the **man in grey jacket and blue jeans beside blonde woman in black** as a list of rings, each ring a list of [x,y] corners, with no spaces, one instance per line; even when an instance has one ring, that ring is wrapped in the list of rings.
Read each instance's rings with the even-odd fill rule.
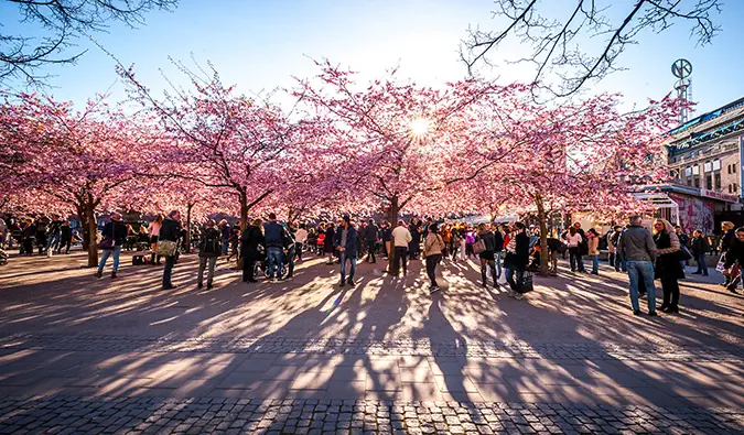
[[[656,261],[656,242],[650,232],[643,226],[640,216],[632,216],[629,225],[619,238],[617,253],[625,260],[628,272],[630,304],[633,314],[640,315],[638,303],[639,282],[648,293],[648,315],[656,316],[656,286],[654,285],[654,262]],[[678,263],[679,264],[679,263]]]

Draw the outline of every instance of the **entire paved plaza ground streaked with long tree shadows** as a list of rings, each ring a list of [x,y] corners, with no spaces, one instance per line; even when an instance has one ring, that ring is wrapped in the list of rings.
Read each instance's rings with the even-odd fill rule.
[[[651,318],[606,267],[515,301],[471,262],[429,295],[418,262],[352,289],[314,259],[281,284],[222,267],[204,292],[188,255],[175,291],[83,261],[0,269],[0,433],[744,432],[744,298],[715,276]]]

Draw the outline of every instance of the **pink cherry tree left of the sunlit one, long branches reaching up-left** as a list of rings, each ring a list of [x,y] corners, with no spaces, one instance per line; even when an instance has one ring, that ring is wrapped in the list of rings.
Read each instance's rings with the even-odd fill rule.
[[[220,191],[239,205],[240,226],[246,228],[249,210],[272,195],[283,197],[294,180],[288,174],[317,134],[311,119],[291,120],[279,106],[225,86],[212,68],[201,77],[176,64],[192,84],[191,90],[175,88],[158,98],[134,76],[118,66],[130,85],[131,97],[153,116],[172,142],[161,150],[169,173]]]

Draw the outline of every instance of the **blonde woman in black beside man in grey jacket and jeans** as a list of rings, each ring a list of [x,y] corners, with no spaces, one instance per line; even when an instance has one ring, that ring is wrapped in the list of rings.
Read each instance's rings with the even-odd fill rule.
[[[664,303],[661,312],[667,314],[679,313],[679,281],[684,278],[680,262],[679,238],[675,227],[666,219],[656,219],[654,222],[654,241],[658,255],[656,258],[655,278],[661,280]]]

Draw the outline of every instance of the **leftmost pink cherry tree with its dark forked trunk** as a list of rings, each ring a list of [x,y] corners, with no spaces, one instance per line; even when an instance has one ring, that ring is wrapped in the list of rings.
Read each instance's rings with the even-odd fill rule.
[[[76,213],[85,233],[88,265],[98,260],[96,210],[126,206],[127,185],[147,167],[157,137],[103,97],[82,110],[34,94],[0,107],[4,171],[28,210]]]

